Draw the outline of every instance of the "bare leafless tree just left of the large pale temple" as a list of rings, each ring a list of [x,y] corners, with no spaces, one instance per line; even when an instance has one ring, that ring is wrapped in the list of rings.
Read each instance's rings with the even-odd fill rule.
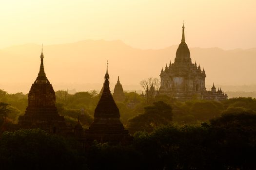
[[[158,78],[148,78],[139,83],[145,90],[146,103],[153,102],[153,99],[159,94],[160,80]]]

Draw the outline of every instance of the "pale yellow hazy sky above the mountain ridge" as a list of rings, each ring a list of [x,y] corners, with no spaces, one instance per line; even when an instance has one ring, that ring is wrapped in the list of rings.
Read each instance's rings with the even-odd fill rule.
[[[120,39],[137,48],[256,47],[256,0],[0,0],[0,48]],[[178,41],[177,41],[178,39]]]

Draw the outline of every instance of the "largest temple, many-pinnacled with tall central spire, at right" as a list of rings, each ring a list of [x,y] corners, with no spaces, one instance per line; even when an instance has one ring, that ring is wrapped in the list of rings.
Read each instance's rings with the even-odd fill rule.
[[[184,24],[182,27],[181,43],[176,51],[174,63],[170,62],[169,67],[161,70],[161,85],[159,95],[167,95],[181,101],[193,98],[203,100],[226,100],[227,94],[220,90],[216,91],[213,85],[212,90],[205,88],[205,70],[200,65],[192,63],[190,51],[185,42]]]

